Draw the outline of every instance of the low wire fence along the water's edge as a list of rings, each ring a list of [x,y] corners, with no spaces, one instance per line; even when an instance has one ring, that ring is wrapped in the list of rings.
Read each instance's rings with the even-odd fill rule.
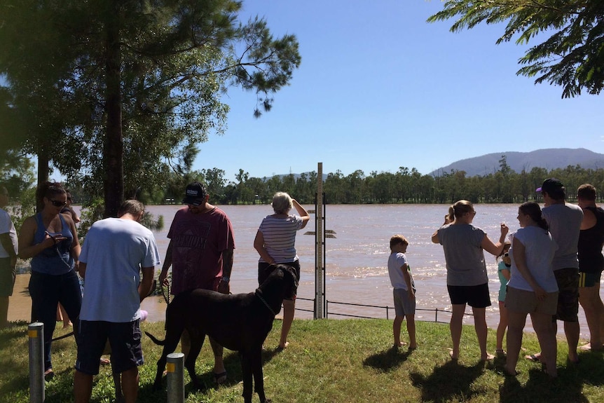
[[[296,297],[296,301],[309,301],[313,303],[313,309],[308,308],[298,308],[298,304],[296,304],[296,310],[301,310],[303,312],[314,313],[315,299],[308,298],[300,298]],[[347,313],[345,312],[345,307],[355,307],[355,310],[366,310],[370,311],[370,313],[366,315],[358,315],[356,313]],[[338,308],[344,308],[344,310],[339,310]],[[364,303],[350,303],[350,302],[338,302],[338,301],[327,301],[327,310],[325,313],[325,317],[329,318],[330,316],[336,317],[357,317],[361,319],[390,319],[390,311],[394,311],[394,307],[392,306],[378,306],[378,305],[366,305]],[[382,312],[380,314],[380,312]],[[371,315],[371,313],[374,313]],[[427,313],[423,315],[421,313]],[[434,315],[432,315],[434,313]],[[439,317],[440,314],[440,317]],[[416,319],[424,320],[426,322],[437,322],[437,323],[448,323],[451,319],[451,310],[439,309],[439,308],[416,308]],[[464,313],[465,316],[474,316],[472,313]],[[430,319],[432,318],[433,319]]]

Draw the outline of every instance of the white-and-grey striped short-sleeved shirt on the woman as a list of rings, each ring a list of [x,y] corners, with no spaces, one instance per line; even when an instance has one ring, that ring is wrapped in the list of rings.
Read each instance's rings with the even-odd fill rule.
[[[287,218],[266,216],[258,231],[264,238],[264,247],[275,263],[289,263],[298,260],[296,248],[296,231],[302,228],[300,216],[290,215]],[[262,258],[261,262],[266,263]]]

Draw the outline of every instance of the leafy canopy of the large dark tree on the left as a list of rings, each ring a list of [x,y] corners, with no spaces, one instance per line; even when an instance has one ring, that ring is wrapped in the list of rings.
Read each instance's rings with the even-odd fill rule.
[[[255,116],[289,83],[293,35],[238,22],[241,1],[8,0],[0,4],[0,113],[23,123],[15,149],[54,165],[106,210],[190,167],[226,128],[229,86],[256,92]],[[4,119],[2,120],[4,121]],[[46,164],[46,170],[45,165]],[[183,174],[183,171],[180,172]]]

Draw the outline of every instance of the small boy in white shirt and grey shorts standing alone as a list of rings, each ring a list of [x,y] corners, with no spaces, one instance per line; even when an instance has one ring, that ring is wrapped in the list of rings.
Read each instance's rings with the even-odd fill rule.
[[[409,333],[409,350],[418,348],[416,341],[416,287],[411,276],[411,268],[407,264],[405,252],[409,242],[403,235],[394,235],[390,238],[390,257],[388,258],[388,274],[394,287],[394,348],[404,346],[401,342],[401,325],[407,319],[407,332]]]

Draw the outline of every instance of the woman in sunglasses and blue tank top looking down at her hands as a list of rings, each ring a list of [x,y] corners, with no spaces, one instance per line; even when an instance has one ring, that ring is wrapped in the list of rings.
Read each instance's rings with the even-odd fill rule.
[[[32,320],[44,324],[44,376],[53,377],[50,341],[55,331],[57,304],[62,303],[77,325],[82,295],[78,282],[80,243],[76,225],[67,214],[67,192],[61,184],[45,182],[36,189],[39,213],[28,217],[19,233],[19,257],[32,258],[29,294]]]

